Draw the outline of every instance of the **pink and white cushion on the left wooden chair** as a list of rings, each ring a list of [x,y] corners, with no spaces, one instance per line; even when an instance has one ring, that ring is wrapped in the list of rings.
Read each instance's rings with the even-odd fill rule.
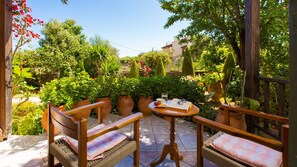
[[[104,125],[100,124],[88,130],[88,136],[100,131]],[[108,132],[87,143],[87,160],[103,158],[102,153],[121,143],[127,137],[117,131]],[[64,136],[64,140],[77,152],[78,142],[71,137]]]

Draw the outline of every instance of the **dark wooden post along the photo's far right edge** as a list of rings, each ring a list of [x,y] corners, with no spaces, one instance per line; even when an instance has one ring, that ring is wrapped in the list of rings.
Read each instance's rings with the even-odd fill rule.
[[[290,94],[289,94],[289,166],[297,166],[297,1],[289,1],[290,20]]]

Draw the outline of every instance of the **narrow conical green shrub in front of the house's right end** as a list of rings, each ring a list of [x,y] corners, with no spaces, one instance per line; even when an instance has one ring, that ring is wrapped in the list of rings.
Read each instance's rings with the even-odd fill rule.
[[[184,60],[183,60],[183,67],[182,67],[182,75],[183,76],[191,75],[195,77],[193,61],[188,48],[185,49],[183,53],[183,57],[184,57]]]

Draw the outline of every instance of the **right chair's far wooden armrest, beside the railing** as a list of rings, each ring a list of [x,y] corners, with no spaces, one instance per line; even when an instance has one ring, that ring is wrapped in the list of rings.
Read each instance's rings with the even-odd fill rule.
[[[277,115],[272,115],[272,114],[267,114],[267,113],[264,113],[264,112],[261,112],[261,111],[250,110],[250,109],[236,107],[236,106],[230,106],[230,105],[226,105],[226,104],[223,104],[221,106],[221,108],[223,108],[224,110],[227,110],[227,111],[240,112],[240,113],[247,114],[247,115],[252,115],[252,116],[266,118],[266,119],[271,119],[271,120],[275,120],[275,121],[278,121],[278,122],[282,122],[284,124],[289,124],[289,119],[288,118],[277,116]]]

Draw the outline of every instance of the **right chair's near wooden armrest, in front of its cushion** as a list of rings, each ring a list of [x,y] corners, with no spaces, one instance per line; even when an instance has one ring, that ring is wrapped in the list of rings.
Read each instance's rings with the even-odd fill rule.
[[[222,123],[218,123],[200,116],[194,116],[193,120],[200,125],[205,125],[207,127],[216,129],[218,131],[222,131],[224,133],[228,133],[232,136],[236,136],[236,137],[241,137],[247,140],[251,140],[254,141],[256,143],[265,145],[267,147],[270,147],[272,149],[275,149],[277,151],[281,151],[283,150],[283,144],[279,141],[276,140],[272,140],[272,139],[267,139],[265,137],[261,137],[261,136],[257,136],[251,133],[248,133],[246,131],[243,130],[239,130],[230,126],[227,126],[225,124]],[[199,127],[197,127],[199,128]]]

